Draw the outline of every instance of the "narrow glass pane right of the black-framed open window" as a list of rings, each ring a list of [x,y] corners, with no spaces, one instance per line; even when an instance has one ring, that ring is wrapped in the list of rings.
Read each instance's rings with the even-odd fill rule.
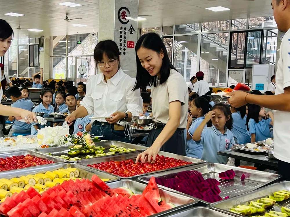
[[[278,30],[264,30],[262,64],[276,65]]]

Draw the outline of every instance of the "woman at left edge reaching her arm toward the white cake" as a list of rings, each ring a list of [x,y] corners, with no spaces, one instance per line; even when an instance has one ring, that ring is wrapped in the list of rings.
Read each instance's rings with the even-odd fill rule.
[[[5,21],[0,19],[0,56],[4,56],[11,45],[13,38],[13,30],[11,26]],[[3,90],[0,87],[0,100],[2,99]],[[17,120],[24,119],[27,123],[37,121],[34,112],[27,111],[21,108],[12,108],[0,104],[0,115],[14,116]]]

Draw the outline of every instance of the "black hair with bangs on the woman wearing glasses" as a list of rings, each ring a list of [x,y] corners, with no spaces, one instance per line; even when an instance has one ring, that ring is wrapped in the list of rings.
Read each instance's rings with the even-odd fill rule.
[[[115,41],[105,40],[97,43],[94,50],[94,60],[97,65],[99,61],[102,61],[103,54],[106,54],[109,59],[118,60],[120,68],[120,51]]]

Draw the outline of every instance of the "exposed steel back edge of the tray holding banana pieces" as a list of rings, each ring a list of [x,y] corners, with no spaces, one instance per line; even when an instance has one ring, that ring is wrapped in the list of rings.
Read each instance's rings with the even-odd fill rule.
[[[79,177],[80,178],[85,178],[85,179],[91,179],[93,175],[99,176],[100,179],[111,179],[107,183],[117,181],[119,178],[117,176],[114,176],[112,174],[107,174],[105,172],[99,172],[96,170],[92,170],[89,167],[85,167],[83,165],[78,165],[75,163],[58,163],[58,164],[48,164],[48,165],[42,165],[38,166],[37,168],[24,168],[22,170],[10,170],[10,171],[4,171],[0,173],[0,179],[12,179],[15,177],[20,177],[20,176],[26,176],[28,174],[37,174],[37,173],[45,173],[46,171],[53,171],[53,170],[58,170],[61,168],[77,168],[79,169]]]

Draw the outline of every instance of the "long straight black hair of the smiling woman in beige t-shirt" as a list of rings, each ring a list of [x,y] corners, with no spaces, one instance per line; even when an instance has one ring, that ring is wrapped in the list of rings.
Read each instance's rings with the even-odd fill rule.
[[[168,53],[166,47],[160,38],[159,35],[156,33],[150,32],[148,34],[142,35],[136,43],[135,51],[136,51],[136,63],[137,63],[137,75],[136,75],[136,82],[135,87],[133,90],[137,90],[141,87],[152,86],[156,87],[157,83],[157,76],[151,76],[146,69],[143,68],[141,62],[138,58],[137,51],[141,48],[151,49],[158,54],[161,50],[164,53],[164,57],[162,60],[162,65],[160,69],[160,84],[166,82],[167,78],[170,74],[170,69],[175,69],[172,63],[169,60]],[[176,70],[176,69],[175,69]],[[177,70],[176,70],[177,71]]]

